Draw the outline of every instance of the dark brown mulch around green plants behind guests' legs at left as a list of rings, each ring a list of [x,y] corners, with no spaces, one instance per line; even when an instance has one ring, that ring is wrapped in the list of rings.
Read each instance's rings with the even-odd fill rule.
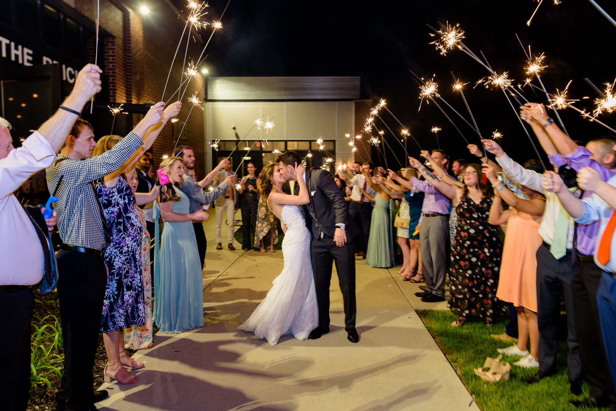
[[[60,319],[60,306],[54,303],[54,293],[49,292],[41,295],[38,291],[34,293],[34,300],[37,300],[34,304],[34,316],[32,318],[33,324],[38,324],[39,321],[35,316],[45,317],[48,314],[54,314]],[[40,302],[39,302],[40,301]],[[153,325],[152,332],[155,334],[158,332],[158,327]],[[126,349],[126,354],[131,357],[136,351],[132,349]],[[94,385],[93,390],[99,388],[103,383],[103,368],[107,363],[107,354],[105,354],[105,345],[103,345],[103,335],[99,334],[99,346],[96,351],[96,359],[94,364]],[[38,387],[30,390],[30,399],[28,400],[28,411],[34,410],[55,410],[55,393],[60,387],[60,378],[55,374],[49,374],[49,382],[51,382],[51,388],[47,388],[46,385],[39,385]]]

